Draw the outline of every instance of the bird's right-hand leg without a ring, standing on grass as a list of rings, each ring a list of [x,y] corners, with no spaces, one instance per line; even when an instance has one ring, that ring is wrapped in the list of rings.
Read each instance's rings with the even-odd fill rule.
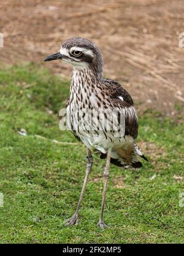
[[[107,182],[109,178],[109,170],[110,170],[110,155],[111,155],[111,149],[109,149],[107,153],[107,160],[106,165],[104,169],[104,188],[102,192],[102,205],[101,205],[101,214],[98,222],[98,226],[102,228],[103,230],[107,227],[104,223],[104,207],[105,207],[105,196],[106,196],[106,190],[107,190]]]

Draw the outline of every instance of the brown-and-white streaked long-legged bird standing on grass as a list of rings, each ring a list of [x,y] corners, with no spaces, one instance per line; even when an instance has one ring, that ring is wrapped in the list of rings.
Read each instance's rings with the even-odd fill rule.
[[[110,163],[122,169],[140,168],[140,158],[148,161],[138,145],[138,118],[134,102],[120,83],[103,76],[102,53],[98,46],[82,37],[66,39],[59,52],[44,61],[62,60],[73,67],[66,123],[74,136],[86,147],[86,171],[79,202],[66,225],[79,224],[86,184],[93,165],[92,151],[105,159],[102,203],[98,227],[104,230],[105,196]],[[92,122],[91,122],[92,120]]]

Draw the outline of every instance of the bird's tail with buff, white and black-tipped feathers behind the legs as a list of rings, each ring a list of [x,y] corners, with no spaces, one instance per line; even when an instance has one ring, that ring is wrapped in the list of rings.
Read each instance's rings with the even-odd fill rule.
[[[101,159],[106,157],[107,154],[101,153]],[[126,147],[126,149],[122,147],[120,149],[113,150],[110,162],[123,168],[140,168],[142,167],[140,158],[148,161],[140,148],[136,144],[132,144],[129,147]]]

